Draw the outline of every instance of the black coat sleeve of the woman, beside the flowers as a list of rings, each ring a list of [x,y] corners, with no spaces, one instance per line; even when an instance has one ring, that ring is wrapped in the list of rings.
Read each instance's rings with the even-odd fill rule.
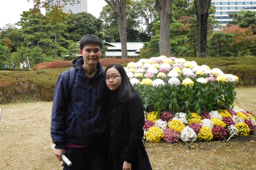
[[[126,162],[132,163],[133,157],[138,150],[139,142],[142,142],[144,136],[143,126],[145,124],[145,117],[143,104],[139,95],[136,95],[134,100],[129,104],[128,113],[132,130],[129,136],[129,143],[125,146],[121,157]]]

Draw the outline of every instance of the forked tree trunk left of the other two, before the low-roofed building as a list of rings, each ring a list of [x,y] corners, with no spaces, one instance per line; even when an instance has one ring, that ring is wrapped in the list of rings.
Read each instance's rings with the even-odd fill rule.
[[[126,18],[126,0],[105,0],[113,9],[118,22],[119,35],[121,41],[122,58],[128,58],[127,55],[127,18]]]

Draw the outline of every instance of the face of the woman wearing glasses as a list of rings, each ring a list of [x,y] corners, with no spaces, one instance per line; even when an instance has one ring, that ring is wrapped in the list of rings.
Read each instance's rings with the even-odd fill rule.
[[[116,77],[113,79],[113,76],[120,76],[120,77]],[[107,77],[106,84],[110,90],[116,90],[120,87],[122,77],[116,68],[111,67],[107,69],[106,77]]]

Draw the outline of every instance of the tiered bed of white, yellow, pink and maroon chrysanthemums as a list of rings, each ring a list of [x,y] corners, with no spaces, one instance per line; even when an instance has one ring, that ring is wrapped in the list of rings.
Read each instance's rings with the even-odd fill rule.
[[[252,114],[233,105],[237,76],[165,56],[128,63],[125,70],[141,96],[147,118],[144,137],[150,142],[222,140],[254,132]]]

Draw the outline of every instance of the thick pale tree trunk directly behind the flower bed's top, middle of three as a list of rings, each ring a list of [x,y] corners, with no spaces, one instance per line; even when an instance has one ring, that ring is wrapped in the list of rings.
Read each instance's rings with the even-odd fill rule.
[[[172,0],[156,0],[155,8],[160,17],[160,55],[171,56],[170,25],[172,19]]]

